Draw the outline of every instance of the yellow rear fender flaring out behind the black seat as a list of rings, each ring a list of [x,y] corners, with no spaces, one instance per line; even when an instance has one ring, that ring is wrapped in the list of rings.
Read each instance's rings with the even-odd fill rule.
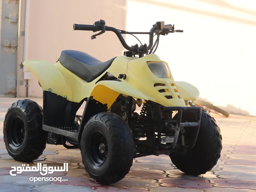
[[[27,60],[23,65],[32,72],[44,91],[51,91],[62,97],[72,98],[72,87],[63,73],[44,60]],[[65,90],[65,93],[63,92]]]

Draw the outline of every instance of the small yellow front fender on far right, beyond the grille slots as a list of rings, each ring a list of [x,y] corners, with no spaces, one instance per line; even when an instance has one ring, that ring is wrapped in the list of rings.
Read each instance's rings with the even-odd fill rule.
[[[197,100],[197,98],[199,97],[198,89],[192,84],[189,84],[184,81],[176,81],[175,84],[182,98],[185,101],[190,101],[190,100],[194,101],[194,100]]]

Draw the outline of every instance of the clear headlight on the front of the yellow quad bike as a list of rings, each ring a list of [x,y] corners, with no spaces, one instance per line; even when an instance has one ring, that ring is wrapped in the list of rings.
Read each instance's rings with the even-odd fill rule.
[[[148,68],[158,78],[170,78],[171,74],[169,68],[165,62],[152,62],[148,61]]]

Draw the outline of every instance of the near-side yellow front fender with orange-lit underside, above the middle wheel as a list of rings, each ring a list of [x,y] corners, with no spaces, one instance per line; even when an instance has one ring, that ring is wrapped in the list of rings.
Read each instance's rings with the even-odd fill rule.
[[[140,98],[142,100],[154,100],[123,81],[100,81],[96,84],[90,96],[102,104],[107,104],[108,108],[110,108],[119,94]]]

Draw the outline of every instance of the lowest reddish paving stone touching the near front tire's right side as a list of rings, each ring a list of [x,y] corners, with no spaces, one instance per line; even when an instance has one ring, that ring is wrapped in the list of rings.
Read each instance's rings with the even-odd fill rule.
[[[113,186],[149,188],[158,186],[158,183],[152,179],[123,178],[121,181],[113,184]]]

